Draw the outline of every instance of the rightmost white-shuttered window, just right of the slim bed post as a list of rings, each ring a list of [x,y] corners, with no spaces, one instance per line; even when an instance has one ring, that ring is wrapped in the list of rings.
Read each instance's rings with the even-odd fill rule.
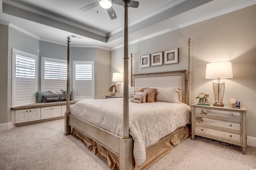
[[[94,99],[94,61],[73,61],[74,99]]]

